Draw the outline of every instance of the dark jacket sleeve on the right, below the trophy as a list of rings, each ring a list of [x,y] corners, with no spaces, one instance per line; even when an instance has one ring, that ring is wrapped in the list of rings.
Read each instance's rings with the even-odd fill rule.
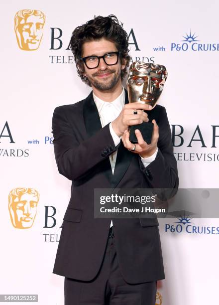
[[[179,178],[177,161],[173,154],[170,125],[164,107],[161,108],[159,120],[158,152],[154,161],[146,168],[140,161],[140,168],[151,188],[178,188]]]

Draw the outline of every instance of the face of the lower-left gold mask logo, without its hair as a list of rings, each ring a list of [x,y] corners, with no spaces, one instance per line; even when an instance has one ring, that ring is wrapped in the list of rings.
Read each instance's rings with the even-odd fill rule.
[[[36,216],[38,199],[32,194],[16,197],[12,203],[16,228],[30,228]]]

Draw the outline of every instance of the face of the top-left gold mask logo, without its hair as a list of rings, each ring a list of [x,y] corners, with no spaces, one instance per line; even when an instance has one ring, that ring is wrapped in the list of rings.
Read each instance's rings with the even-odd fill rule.
[[[18,25],[23,50],[36,50],[43,35],[44,20],[39,16],[30,15],[22,19]]]

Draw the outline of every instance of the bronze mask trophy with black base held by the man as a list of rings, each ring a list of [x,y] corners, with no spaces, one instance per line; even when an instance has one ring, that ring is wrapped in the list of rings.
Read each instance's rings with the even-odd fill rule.
[[[143,103],[156,106],[162,93],[164,83],[167,79],[167,70],[164,66],[146,63],[142,61],[133,62],[129,68],[127,78],[127,90],[129,103]],[[131,143],[138,143],[134,131],[140,130],[144,141],[151,143],[153,123],[143,122],[139,125],[130,126],[129,140]]]

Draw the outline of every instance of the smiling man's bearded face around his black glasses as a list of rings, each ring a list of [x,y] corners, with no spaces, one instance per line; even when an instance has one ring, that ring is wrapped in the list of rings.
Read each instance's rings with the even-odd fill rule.
[[[87,56],[103,56],[110,52],[118,51],[114,42],[111,42],[105,38],[100,40],[93,40],[85,42],[83,44],[82,57]],[[83,63],[84,64],[84,63]],[[124,69],[124,65],[121,65],[120,59],[117,64],[108,66],[104,59],[100,59],[99,66],[94,69],[88,69],[84,64],[85,76],[91,82],[92,88],[96,88],[100,91],[111,90],[118,82],[121,82],[121,69]]]

